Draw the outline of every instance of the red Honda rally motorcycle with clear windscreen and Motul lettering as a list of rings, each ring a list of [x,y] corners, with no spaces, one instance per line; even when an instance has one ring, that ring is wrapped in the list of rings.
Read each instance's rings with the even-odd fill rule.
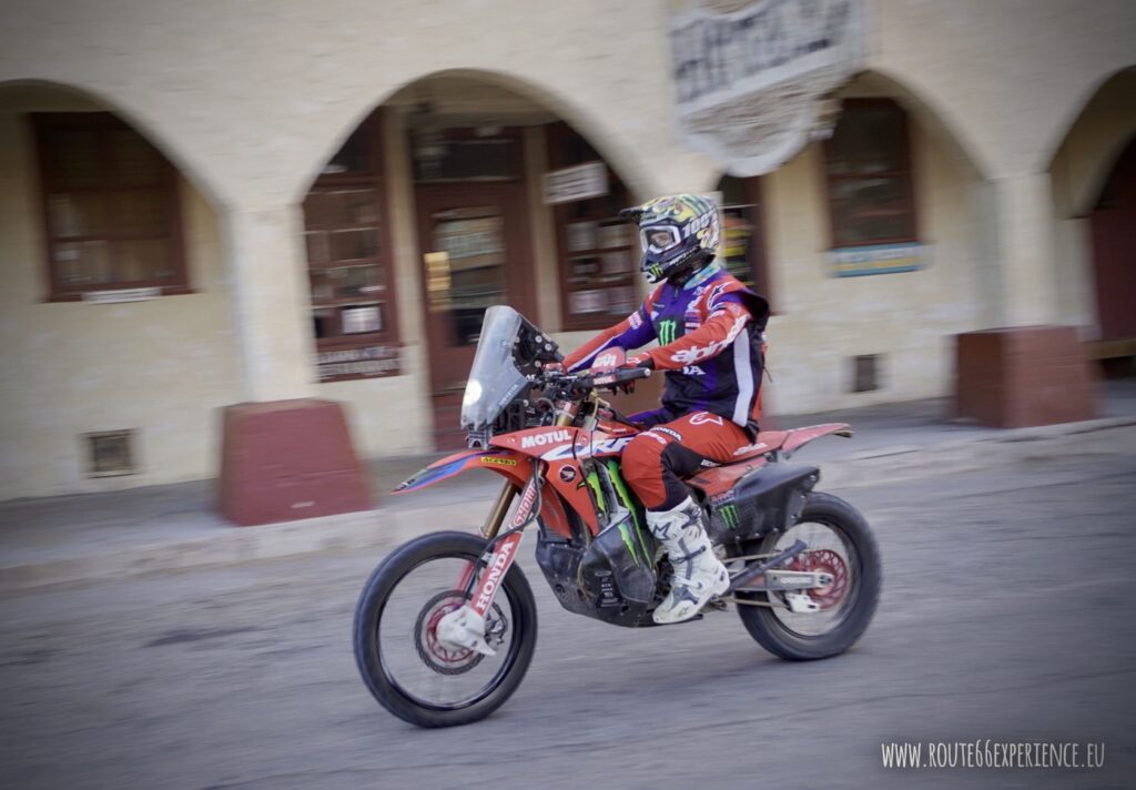
[[[620,452],[642,427],[599,394],[651,372],[620,367],[619,349],[601,354],[586,374],[551,364],[561,359],[512,308],[486,310],[461,410],[469,450],[395,490],[478,468],[504,477],[481,535],[411,540],[383,560],[360,596],[359,671],[375,698],[407,722],[475,722],[517,690],[536,645],[536,605],[515,564],[532,525],[536,563],[566,609],[613,625],[654,625],[671,567],[619,469]],[[826,434],[851,432],[846,424],[761,432],[735,461],[705,461],[686,480],[730,572],[727,592],[695,619],[733,605],[753,639],[793,660],[846,650],[879,596],[879,554],[864,518],[813,490],[816,467],[788,463]]]

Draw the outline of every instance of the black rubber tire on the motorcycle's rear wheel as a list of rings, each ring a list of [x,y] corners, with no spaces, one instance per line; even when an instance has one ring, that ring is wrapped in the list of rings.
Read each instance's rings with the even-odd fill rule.
[[[860,558],[860,579],[858,599],[852,612],[835,629],[818,637],[802,638],[790,632],[769,607],[744,604],[737,607],[745,630],[761,647],[778,658],[795,662],[828,658],[852,647],[863,635],[876,613],[883,584],[879,548],[868,522],[859,510],[830,493],[813,491],[805,501],[800,521],[838,525],[855,547]],[[762,550],[770,550],[774,541],[775,538],[768,538]]]

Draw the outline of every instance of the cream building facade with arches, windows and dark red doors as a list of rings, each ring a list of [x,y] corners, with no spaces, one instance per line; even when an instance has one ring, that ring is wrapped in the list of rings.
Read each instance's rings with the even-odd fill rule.
[[[7,0],[0,498],[214,476],[239,402],[446,447],[484,307],[613,323],[613,215],[666,192],[770,298],[771,411],[947,394],[994,326],[1131,355],[1131,3],[863,2],[830,136],[760,176],[677,128],[694,5]]]

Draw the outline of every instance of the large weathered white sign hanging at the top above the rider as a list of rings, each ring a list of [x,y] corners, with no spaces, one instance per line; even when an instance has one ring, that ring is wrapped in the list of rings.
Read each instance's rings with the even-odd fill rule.
[[[730,175],[761,175],[832,134],[829,97],[864,59],[863,2],[762,0],[713,10],[721,6],[701,0],[671,17],[678,127]]]

